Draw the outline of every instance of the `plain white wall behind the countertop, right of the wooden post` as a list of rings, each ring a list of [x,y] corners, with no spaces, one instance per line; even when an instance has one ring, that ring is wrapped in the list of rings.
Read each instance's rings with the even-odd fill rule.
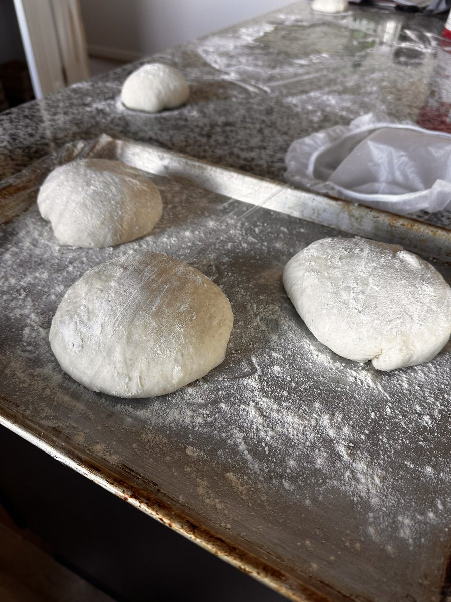
[[[90,54],[133,60],[290,0],[80,0]]]

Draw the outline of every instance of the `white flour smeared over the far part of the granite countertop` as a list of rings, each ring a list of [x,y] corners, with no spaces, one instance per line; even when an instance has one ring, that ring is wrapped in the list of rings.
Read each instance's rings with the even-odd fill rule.
[[[315,123],[337,125],[370,111],[416,116],[418,86],[426,90],[429,79],[419,73],[429,70],[438,43],[434,23],[428,31],[399,14],[290,8],[209,36],[197,52],[224,79],[295,108],[299,125],[310,126],[306,134]]]

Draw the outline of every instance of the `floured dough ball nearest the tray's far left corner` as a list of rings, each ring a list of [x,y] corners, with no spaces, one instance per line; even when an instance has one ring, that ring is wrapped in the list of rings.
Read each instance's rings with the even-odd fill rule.
[[[73,247],[111,247],[149,234],[161,218],[158,188],[121,161],[78,159],[54,169],[37,197],[55,236]]]

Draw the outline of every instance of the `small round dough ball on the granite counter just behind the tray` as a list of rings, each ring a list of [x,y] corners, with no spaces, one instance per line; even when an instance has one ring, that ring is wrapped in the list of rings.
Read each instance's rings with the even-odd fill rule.
[[[182,73],[161,63],[150,63],[134,71],[121,91],[126,107],[147,113],[181,107],[188,98],[189,86]]]

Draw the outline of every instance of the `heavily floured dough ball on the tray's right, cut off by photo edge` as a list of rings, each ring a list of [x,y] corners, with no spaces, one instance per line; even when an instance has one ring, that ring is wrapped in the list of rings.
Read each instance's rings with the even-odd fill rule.
[[[290,259],[283,284],[321,343],[378,370],[427,362],[451,334],[451,288],[396,244],[322,238]]]

